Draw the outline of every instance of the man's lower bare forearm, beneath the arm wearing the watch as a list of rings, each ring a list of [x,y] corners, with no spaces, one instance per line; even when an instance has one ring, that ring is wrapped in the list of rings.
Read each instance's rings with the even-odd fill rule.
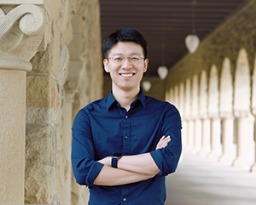
[[[154,175],[137,174],[119,168],[104,165],[102,171],[94,180],[94,185],[127,185],[138,181],[153,178]]]

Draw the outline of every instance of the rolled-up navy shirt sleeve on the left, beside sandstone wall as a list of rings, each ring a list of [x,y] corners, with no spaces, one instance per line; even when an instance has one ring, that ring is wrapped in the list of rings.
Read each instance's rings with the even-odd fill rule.
[[[77,183],[91,187],[103,164],[95,161],[90,117],[88,111],[83,109],[79,111],[73,122],[71,159]]]

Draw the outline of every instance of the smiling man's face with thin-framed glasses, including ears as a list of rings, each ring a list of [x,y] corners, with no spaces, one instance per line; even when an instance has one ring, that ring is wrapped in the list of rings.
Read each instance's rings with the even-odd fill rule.
[[[133,42],[119,42],[110,49],[108,58],[144,57],[143,48]],[[103,60],[105,71],[110,73],[113,89],[131,90],[138,89],[143,78],[143,72],[147,71],[148,59],[117,62],[112,59]]]

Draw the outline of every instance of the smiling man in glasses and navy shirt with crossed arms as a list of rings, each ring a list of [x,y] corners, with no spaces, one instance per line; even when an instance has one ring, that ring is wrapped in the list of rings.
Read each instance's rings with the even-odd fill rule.
[[[112,90],[73,122],[73,173],[79,185],[89,186],[91,205],[166,200],[165,177],[177,168],[182,150],[181,120],[173,105],[145,96],[140,87],[147,46],[132,29],[105,40],[103,64]]]

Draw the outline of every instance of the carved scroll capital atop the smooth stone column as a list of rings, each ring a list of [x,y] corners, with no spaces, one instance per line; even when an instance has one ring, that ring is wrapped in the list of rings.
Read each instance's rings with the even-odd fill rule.
[[[44,9],[24,4],[5,14],[0,7],[0,69],[31,71],[43,29]]]

